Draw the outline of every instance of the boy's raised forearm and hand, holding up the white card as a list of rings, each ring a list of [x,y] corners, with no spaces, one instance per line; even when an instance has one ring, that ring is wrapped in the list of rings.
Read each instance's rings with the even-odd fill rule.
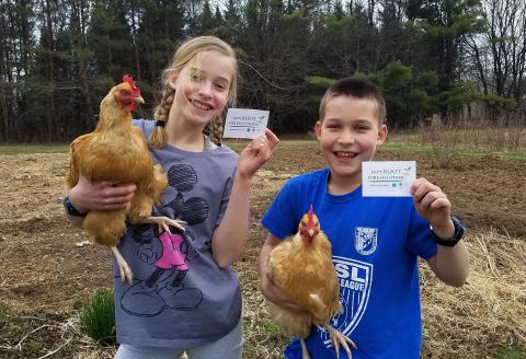
[[[418,178],[411,186],[414,208],[425,218],[439,239],[450,239],[455,234],[451,221],[451,204],[438,186],[425,178]],[[460,241],[455,246],[438,245],[437,253],[427,259],[433,273],[445,283],[460,287],[469,271],[469,257],[466,244]]]

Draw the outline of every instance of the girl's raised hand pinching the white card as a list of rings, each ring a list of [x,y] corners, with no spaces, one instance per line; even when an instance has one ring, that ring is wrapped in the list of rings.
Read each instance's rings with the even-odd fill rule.
[[[254,173],[271,158],[272,149],[279,139],[268,128],[264,135],[258,136],[241,151],[238,160],[240,176],[251,178]]]

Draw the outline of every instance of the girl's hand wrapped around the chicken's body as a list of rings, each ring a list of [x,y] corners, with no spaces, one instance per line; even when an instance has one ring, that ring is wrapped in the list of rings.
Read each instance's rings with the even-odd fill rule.
[[[80,175],[79,183],[69,190],[69,200],[80,212],[125,208],[134,197],[136,185],[115,182],[89,182]]]

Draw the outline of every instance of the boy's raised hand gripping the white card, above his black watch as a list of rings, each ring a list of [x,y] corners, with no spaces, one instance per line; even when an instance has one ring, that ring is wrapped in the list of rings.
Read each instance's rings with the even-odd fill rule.
[[[414,208],[425,218],[441,238],[450,238],[455,232],[451,222],[451,204],[441,187],[425,178],[418,178],[410,189],[413,195]]]

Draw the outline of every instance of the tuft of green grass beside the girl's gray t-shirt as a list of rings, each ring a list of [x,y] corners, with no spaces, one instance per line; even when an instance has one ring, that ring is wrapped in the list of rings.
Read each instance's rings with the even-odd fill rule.
[[[91,297],[81,309],[80,324],[96,343],[103,346],[116,345],[115,306],[110,289],[101,288]]]

